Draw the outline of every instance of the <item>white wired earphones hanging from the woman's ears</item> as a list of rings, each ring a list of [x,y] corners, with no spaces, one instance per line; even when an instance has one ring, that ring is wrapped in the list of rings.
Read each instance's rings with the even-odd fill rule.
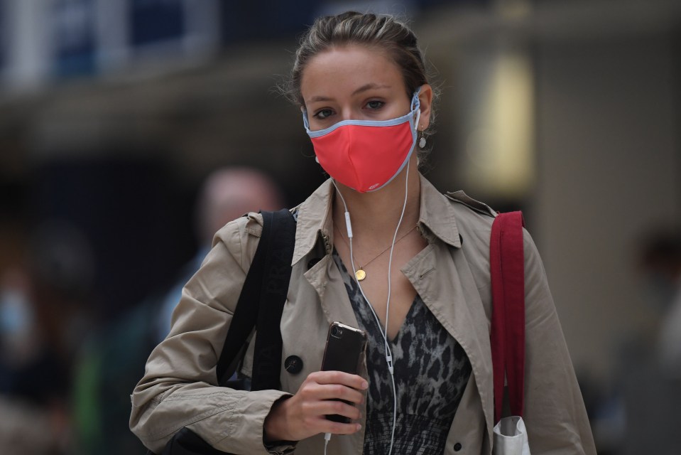
[[[421,116],[421,111],[420,109],[416,112],[416,122],[414,122],[414,128],[418,129],[418,121]],[[414,144],[415,146],[416,144]],[[361,283],[357,281],[357,286],[359,287],[359,291],[361,292],[361,295],[364,297],[364,300],[366,301],[367,304],[369,304],[369,309],[371,309],[371,313],[374,314],[374,319],[376,319],[376,323],[378,324],[378,331],[381,332],[381,336],[383,336],[383,342],[385,343],[386,346],[386,362],[388,363],[388,371],[390,372],[390,378],[391,382],[393,383],[393,430],[391,433],[390,437],[390,449],[388,450],[388,455],[391,455],[393,452],[393,444],[395,442],[395,427],[396,427],[396,422],[397,422],[397,390],[395,386],[395,376],[393,375],[393,353],[390,348],[390,343],[388,343],[388,315],[390,313],[390,294],[391,294],[391,269],[393,265],[393,250],[395,249],[395,243],[397,239],[397,233],[400,230],[400,226],[402,225],[402,219],[404,218],[404,213],[407,208],[407,196],[409,194],[408,188],[409,188],[409,164],[410,162],[407,161],[407,168],[405,172],[405,179],[404,179],[404,203],[402,205],[402,213],[400,214],[400,220],[397,223],[397,228],[395,228],[395,234],[393,235],[393,242],[391,243],[390,246],[390,257],[388,259],[388,299],[386,301],[386,327],[383,328],[381,326],[381,320],[378,319],[378,315],[376,314],[376,311],[374,311],[374,305],[371,304],[371,301],[366,297],[366,294],[364,294],[364,289],[361,289]],[[357,269],[354,266],[354,255],[352,254],[352,224],[350,223],[350,213],[347,210],[347,204],[345,203],[345,198],[343,197],[343,193],[341,193],[338,189],[338,186],[336,185],[336,181],[334,179],[331,180],[334,186],[336,187],[336,192],[340,196],[342,202],[343,202],[343,207],[345,209],[345,228],[347,229],[347,237],[349,240],[349,247],[350,247],[350,264],[352,264],[352,274],[356,274]],[[327,444],[329,444],[329,439],[331,439],[331,433],[325,433],[324,434],[324,454],[326,455],[327,453]]]

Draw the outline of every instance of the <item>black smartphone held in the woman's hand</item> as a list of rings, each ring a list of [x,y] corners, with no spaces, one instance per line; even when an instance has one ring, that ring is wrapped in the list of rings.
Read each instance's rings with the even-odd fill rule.
[[[344,371],[352,375],[359,374],[359,365],[361,365],[361,358],[365,349],[366,332],[344,323],[331,323],[324,350],[324,359],[322,360],[322,371]],[[350,419],[339,414],[327,415],[327,419],[334,422],[350,423]]]

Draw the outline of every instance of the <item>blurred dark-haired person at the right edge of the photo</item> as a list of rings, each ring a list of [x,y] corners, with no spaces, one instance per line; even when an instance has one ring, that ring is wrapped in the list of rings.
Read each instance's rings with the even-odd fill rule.
[[[636,245],[648,317],[616,352],[610,390],[596,405],[600,454],[678,454],[681,432],[681,228],[654,228]]]

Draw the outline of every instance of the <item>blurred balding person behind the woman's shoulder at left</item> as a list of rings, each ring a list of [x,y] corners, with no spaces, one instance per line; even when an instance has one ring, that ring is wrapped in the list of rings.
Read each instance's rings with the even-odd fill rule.
[[[249,211],[282,205],[276,183],[255,168],[219,168],[205,178],[194,208],[194,257],[172,284],[158,289],[82,351],[74,385],[77,453],[144,452],[128,427],[130,390],[153,347],[168,334],[182,287],[200,267],[219,228]]]

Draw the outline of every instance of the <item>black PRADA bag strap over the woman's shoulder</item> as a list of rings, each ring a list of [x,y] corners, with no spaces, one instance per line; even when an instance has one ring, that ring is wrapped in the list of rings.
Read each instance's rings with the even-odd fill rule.
[[[295,219],[289,210],[261,213],[263,231],[217,363],[217,378],[224,385],[236,371],[247,348],[246,340],[257,324],[251,390],[280,387],[279,323],[295,244]],[[258,311],[260,308],[263,311]]]

